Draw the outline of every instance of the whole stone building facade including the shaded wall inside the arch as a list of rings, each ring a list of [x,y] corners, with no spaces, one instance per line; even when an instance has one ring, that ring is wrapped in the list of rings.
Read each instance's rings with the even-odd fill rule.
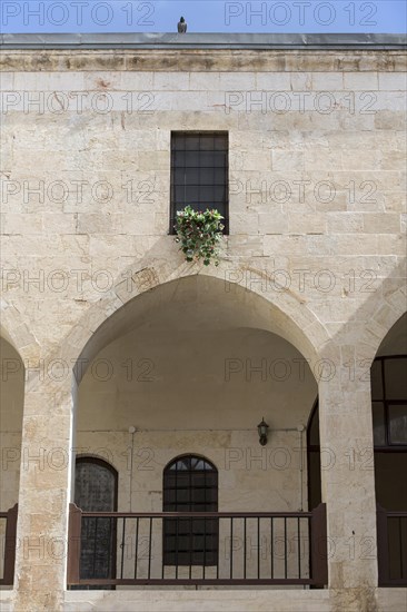
[[[406,494],[393,464],[375,483],[370,366],[407,353],[405,51],[80,42],[1,55],[2,610],[401,612],[378,582],[377,490]],[[169,233],[175,132],[228,137],[218,267]],[[220,512],[307,512],[320,477],[325,588],[67,589],[78,457],[115,468],[117,511],[159,513],[185,455],[216,466]]]

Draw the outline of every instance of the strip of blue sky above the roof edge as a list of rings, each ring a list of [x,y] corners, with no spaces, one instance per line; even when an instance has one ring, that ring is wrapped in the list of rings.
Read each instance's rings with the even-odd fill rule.
[[[404,33],[406,0],[0,0],[1,31]]]

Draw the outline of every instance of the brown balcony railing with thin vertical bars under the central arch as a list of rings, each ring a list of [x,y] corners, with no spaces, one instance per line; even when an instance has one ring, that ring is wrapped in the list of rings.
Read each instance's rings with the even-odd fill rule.
[[[327,584],[326,506],[126,513],[70,506],[68,586]]]

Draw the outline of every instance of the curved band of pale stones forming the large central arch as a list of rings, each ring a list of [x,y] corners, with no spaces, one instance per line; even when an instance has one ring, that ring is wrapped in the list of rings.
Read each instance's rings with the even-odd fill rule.
[[[202,269],[198,265],[177,266],[169,260],[153,259],[142,261],[136,272],[127,268],[121,273],[113,289],[103,299],[92,305],[68,335],[64,346],[61,347],[64,353],[62,356],[71,363],[77,362],[77,366],[82,357],[89,361],[98,351],[95,338],[103,332],[111,337],[110,332],[107,330],[108,322],[120,320],[136,297],[152,293],[166,285],[171,285],[177,293],[178,284],[192,276],[224,284],[225,295],[230,292],[240,292],[242,303],[249,304],[251,299],[260,309],[260,304],[267,305],[269,325],[272,318],[276,319],[272,330],[311,361],[316,361],[324,345],[329,344],[330,337],[327,329],[306,303],[289,288],[281,289],[277,286],[272,276],[260,268],[224,260],[217,268]],[[83,374],[81,369],[81,367],[75,368],[77,383]]]

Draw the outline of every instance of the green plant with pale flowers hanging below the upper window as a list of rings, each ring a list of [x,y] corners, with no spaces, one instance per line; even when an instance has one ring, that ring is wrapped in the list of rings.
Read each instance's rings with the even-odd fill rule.
[[[218,210],[193,210],[186,206],[177,213],[176,243],[180,243],[179,250],[186,256],[187,261],[204,259],[204,265],[209,266],[214,260],[219,266],[218,245],[221,240],[224,217]]]

